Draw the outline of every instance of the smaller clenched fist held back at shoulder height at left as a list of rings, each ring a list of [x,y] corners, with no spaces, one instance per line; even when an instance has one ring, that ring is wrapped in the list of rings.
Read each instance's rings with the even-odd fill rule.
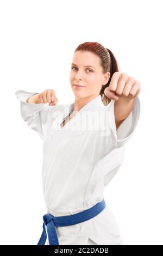
[[[58,99],[55,95],[55,91],[53,89],[46,89],[42,93],[37,93],[31,97],[29,97],[26,102],[28,103],[47,103],[49,102],[49,106],[56,105]]]

